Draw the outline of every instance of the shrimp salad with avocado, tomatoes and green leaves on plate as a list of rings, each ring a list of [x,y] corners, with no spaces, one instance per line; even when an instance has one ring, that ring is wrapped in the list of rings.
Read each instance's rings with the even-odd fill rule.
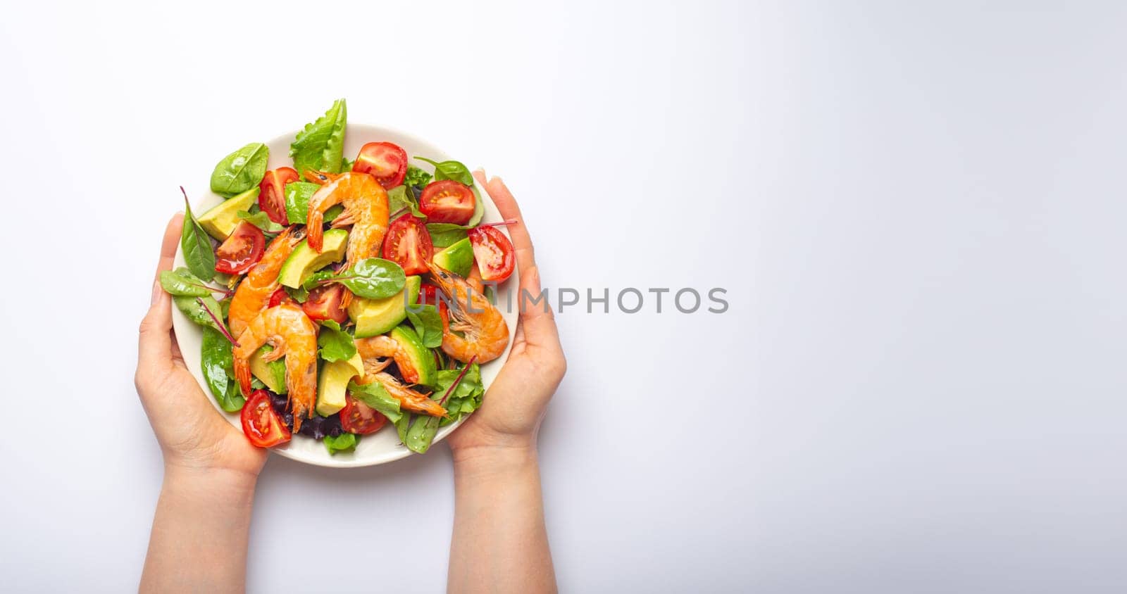
[[[479,366],[508,345],[485,287],[513,273],[497,228],[513,220],[481,223],[458,161],[390,142],[348,159],[346,118],[340,99],[305,125],[293,166],[267,170],[263,143],[227,155],[211,177],[224,201],[198,216],[181,188],[187,266],[160,284],[203,327],[207,387],[255,446],[296,433],[335,454],[390,425],[424,453],[481,405]]]

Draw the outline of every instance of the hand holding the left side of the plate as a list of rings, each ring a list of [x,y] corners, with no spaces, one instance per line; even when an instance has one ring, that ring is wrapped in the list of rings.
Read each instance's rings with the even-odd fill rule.
[[[165,230],[160,263],[152,286],[152,306],[141,321],[137,396],[149,415],[165,454],[166,469],[230,470],[257,478],[267,452],[247,441],[208,402],[184,366],[172,331],[172,299],[160,288],[162,270],[172,269],[184,216],[176,215]]]

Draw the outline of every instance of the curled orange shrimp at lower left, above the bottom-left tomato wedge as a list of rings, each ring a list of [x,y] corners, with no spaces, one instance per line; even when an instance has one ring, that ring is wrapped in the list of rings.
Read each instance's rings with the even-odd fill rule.
[[[317,326],[293,304],[282,304],[258,314],[239,335],[234,348],[234,378],[242,395],[250,395],[250,357],[269,343],[274,350],[263,359],[276,361],[285,357],[285,387],[290,392],[293,430],[301,429],[301,418],[313,416],[317,400]]]

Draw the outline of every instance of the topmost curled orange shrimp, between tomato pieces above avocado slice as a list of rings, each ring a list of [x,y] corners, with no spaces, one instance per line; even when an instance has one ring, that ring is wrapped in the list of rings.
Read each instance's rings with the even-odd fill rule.
[[[345,212],[332,219],[334,227],[352,225],[348,232],[347,266],[380,255],[388,232],[388,192],[367,173],[325,173],[307,171],[305,178],[323,182],[309,199],[307,232],[309,245],[319,253],[322,246],[325,212],[338,204]]]

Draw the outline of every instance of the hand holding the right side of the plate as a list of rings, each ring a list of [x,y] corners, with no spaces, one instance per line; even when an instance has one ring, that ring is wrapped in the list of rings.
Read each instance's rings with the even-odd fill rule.
[[[547,300],[532,304],[540,295],[540,273],[532,253],[532,238],[524,226],[516,199],[499,178],[486,181],[483,171],[473,177],[489,192],[504,218],[516,219],[508,225],[521,273],[517,303],[521,317],[508,360],[489,386],[481,408],[474,412],[447,438],[455,460],[460,456],[488,449],[535,449],[536,431],[551,399],[564,379],[567,361],[560,346],[551,306]]]

